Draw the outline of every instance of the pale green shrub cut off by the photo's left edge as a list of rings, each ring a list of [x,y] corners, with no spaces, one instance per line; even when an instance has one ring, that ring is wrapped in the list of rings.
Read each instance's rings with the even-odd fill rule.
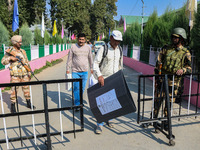
[[[0,21],[0,46],[2,44],[8,45],[9,44],[9,32],[3,23]]]

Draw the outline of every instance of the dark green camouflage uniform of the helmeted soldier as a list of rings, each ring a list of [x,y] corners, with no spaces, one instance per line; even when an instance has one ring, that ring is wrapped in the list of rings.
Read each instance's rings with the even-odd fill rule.
[[[192,73],[191,68],[191,54],[189,50],[183,46],[180,46],[178,48],[175,48],[173,45],[167,45],[164,46],[161,50],[161,52],[158,55],[158,60],[156,63],[155,73],[158,73],[158,64],[162,63],[162,74],[176,74],[176,72],[179,69],[183,70],[184,74]],[[174,78],[174,96],[177,95],[178,89],[180,86],[183,86],[181,84],[181,76],[175,76]],[[169,86],[169,96],[172,96],[172,86],[173,86],[173,79],[172,76],[168,78],[168,86]],[[159,97],[159,94],[158,94]],[[173,98],[173,101],[175,101],[175,98]],[[154,103],[154,115],[155,117],[158,116],[158,112],[161,106],[161,102],[159,100],[156,100]],[[167,116],[167,109],[164,108],[164,114]]]

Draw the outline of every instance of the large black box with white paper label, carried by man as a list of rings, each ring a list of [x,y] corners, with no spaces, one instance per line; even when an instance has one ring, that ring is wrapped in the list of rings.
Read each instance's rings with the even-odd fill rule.
[[[103,87],[97,83],[88,88],[87,93],[90,109],[98,123],[136,111],[121,70],[106,78]]]

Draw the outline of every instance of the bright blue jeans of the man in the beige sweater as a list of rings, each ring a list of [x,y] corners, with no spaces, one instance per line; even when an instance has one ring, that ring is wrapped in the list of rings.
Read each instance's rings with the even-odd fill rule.
[[[88,79],[88,72],[72,72],[72,78],[82,78],[83,88],[82,91],[84,92],[85,86]],[[74,82],[74,103],[76,106],[80,105],[80,91],[79,91],[79,82]]]

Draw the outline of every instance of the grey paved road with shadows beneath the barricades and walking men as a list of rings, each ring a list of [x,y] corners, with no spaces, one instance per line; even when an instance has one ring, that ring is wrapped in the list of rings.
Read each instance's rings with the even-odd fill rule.
[[[37,78],[40,80],[51,80],[51,79],[63,79],[65,77],[65,63],[67,57],[63,58],[63,62],[59,63],[53,67],[47,68],[40,74],[37,74]],[[128,87],[131,91],[132,97],[135,104],[137,105],[137,80],[138,73],[128,67],[124,69],[125,78]],[[33,79],[34,80],[34,79]],[[146,95],[151,95],[152,82],[148,80],[146,82],[147,89]],[[58,107],[58,85],[52,84],[47,87],[48,89],[48,105],[50,108]],[[33,101],[37,109],[42,109],[42,87],[32,86],[33,91]],[[26,103],[22,100],[22,92],[19,91],[20,110],[28,110],[25,106]],[[65,85],[61,84],[61,101],[62,105],[71,105],[69,101],[71,93],[66,92]],[[9,92],[3,93],[4,108],[5,112],[9,112],[10,102],[9,102]],[[62,141],[61,136],[53,136],[52,145],[53,149],[69,149],[69,150],[199,150],[200,149],[200,119],[186,118],[178,120],[173,120],[173,134],[176,136],[174,147],[168,146],[168,139],[163,134],[155,134],[152,127],[148,129],[143,129],[139,124],[137,124],[137,113],[128,114],[123,117],[119,117],[113,120],[114,128],[110,129],[107,126],[103,128],[103,133],[101,135],[96,135],[94,133],[94,128],[96,127],[95,119],[90,111],[89,103],[87,99],[86,92],[84,93],[84,121],[85,121],[85,131],[76,134],[76,139],[74,139],[73,134],[65,134]],[[148,104],[149,108],[151,104]],[[176,113],[176,111],[174,111]],[[76,128],[80,128],[79,115],[75,115]],[[34,116],[36,124],[36,134],[45,133],[45,123],[44,115],[38,114]],[[72,129],[72,112],[65,111],[62,112],[63,118],[63,129]],[[20,117],[22,124],[22,134],[32,135],[32,117],[31,115]],[[50,113],[50,128],[51,132],[60,131],[60,121],[59,112]],[[6,125],[8,127],[8,136],[18,137],[19,129],[17,124],[17,117],[7,118]],[[3,130],[3,119],[0,119],[0,139],[4,138]],[[32,140],[24,140],[23,147],[21,143],[11,142],[9,143],[10,149],[45,149],[44,145],[45,138],[39,138],[36,140],[37,144]],[[1,144],[0,149],[6,149],[6,144]]]

